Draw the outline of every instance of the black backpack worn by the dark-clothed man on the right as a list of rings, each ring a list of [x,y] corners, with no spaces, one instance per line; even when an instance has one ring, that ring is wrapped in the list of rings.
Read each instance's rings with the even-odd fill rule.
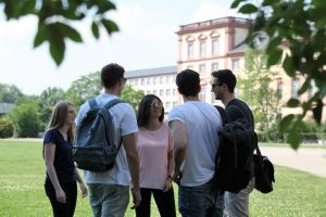
[[[244,189],[253,176],[253,151],[258,142],[253,124],[243,114],[239,104],[230,105],[239,111],[243,118],[230,122],[228,114],[217,110],[224,119],[223,130],[218,132],[220,149],[215,158],[216,187],[224,191],[238,193]]]

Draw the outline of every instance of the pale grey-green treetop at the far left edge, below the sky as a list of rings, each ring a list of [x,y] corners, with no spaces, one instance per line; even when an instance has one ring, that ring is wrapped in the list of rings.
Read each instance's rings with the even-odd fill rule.
[[[24,94],[14,85],[0,84],[0,103],[16,103]]]

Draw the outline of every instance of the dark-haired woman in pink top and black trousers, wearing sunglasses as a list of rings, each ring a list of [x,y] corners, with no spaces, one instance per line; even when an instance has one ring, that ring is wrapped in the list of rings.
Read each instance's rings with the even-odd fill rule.
[[[140,159],[141,203],[137,217],[149,217],[153,194],[161,217],[175,217],[172,188],[173,138],[165,124],[162,101],[154,94],[145,95],[138,110],[137,150]]]

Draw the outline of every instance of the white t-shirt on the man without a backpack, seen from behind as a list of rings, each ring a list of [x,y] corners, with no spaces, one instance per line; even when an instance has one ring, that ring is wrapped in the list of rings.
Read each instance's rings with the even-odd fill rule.
[[[210,181],[215,171],[215,156],[220,145],[217,130],[222,119],[217,110],[201,101],[187,101],[174,107],[168,122],[179,120],[187,129],[187,153],[181,165],[181,186],[197,187]]]

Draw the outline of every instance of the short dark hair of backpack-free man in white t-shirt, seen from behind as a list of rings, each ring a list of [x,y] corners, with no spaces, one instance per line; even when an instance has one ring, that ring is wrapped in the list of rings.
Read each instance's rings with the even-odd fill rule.
[[[180,94],[196,97],[200,91],[199,74],[191,69],[185,69],[177,74],[176,85]]]

